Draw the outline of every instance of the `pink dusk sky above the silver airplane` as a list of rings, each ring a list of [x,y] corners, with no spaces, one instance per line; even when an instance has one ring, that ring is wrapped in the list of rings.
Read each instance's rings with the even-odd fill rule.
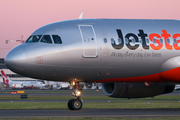
[[[37,28],[83,18],[180,19],[180,0],[0,0],[0,58]]]

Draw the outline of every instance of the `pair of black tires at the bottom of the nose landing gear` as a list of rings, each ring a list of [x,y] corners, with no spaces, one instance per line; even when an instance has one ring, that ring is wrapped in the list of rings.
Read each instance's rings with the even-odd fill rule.
[[[80,110],[82,108],[82,102],[79,99],[71,99],[68,101],[68,108],[70,110]]]

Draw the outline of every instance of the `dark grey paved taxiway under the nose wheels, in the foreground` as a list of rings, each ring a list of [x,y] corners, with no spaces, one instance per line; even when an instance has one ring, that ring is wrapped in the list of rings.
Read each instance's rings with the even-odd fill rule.
[[[180,109],[0,110],[0,119],[62,117],[180,117]]]

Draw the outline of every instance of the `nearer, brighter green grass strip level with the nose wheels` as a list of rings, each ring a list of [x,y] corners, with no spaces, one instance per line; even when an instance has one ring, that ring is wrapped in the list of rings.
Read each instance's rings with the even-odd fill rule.
[[[83,109],[158,109],[180,108],[176,101],[116,101],[104,103],[84,103]],[[68,109],[67,103],[62,102],[1,102],[1,110],[43,110]]]

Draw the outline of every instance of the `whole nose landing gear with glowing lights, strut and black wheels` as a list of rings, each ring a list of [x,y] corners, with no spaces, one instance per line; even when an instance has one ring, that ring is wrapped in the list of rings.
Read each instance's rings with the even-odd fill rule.
[[[71,82],[70,83],[72,86],[72,89],[74,90],[74,92],[72,93],[72,95],[74,96],[74,99],[70,99],[68,101],[68,108],[70,110],[80,110],[82,108],[82,100],[81,100],[81,91],[82,88],[84,87],[83,84],[80,84],[80,82]]]

